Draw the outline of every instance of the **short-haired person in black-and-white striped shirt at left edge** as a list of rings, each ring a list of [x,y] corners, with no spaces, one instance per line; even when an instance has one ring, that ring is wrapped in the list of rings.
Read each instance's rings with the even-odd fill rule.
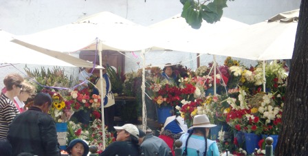
[[[5,93],[0,96],[0,138],[6,138],[8,135],[8,125],[19,113],[14,104],[14,97],[18,96],[23,87],[23,77],[19,74],[8,74],[3,79],[6,88]]]

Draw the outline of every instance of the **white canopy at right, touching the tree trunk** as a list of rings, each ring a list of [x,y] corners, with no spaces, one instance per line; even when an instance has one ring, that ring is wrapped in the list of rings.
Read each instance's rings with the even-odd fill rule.
[[[250,60],[291,59],[298,14],[299,10],[284,12],[242,30],[220,34],[213,38],[220,46],[210,46],[208,50],[211,54]]]

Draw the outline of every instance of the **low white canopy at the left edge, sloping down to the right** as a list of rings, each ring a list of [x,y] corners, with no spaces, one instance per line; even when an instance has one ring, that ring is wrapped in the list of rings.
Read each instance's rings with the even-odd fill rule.
[[[81,60],[74,56],[69,56],[62,53],[52,55],[42,54],[41,52],[12,43],[10,42],[13,39],[12,36],[14,35],[0,30],[0,63],[93,67],[93,63],[88,63],[87,61]]]

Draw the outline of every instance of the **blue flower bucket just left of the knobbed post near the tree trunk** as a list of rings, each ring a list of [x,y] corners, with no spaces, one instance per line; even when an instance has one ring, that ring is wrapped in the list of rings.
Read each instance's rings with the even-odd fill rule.
[[[259,149],[258,143],[261,139],[261,135],[256,135],[255,133],[245,133],[245,145],[248,155],[254,153],[255,148]]]

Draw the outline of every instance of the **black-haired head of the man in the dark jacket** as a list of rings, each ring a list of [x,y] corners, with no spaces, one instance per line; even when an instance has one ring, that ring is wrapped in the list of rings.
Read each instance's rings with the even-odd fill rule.
[[[42,109],[44,113],[47,113],[52,106],[52,97],[48,93],[37,93],[34,97],[33,105]]]

